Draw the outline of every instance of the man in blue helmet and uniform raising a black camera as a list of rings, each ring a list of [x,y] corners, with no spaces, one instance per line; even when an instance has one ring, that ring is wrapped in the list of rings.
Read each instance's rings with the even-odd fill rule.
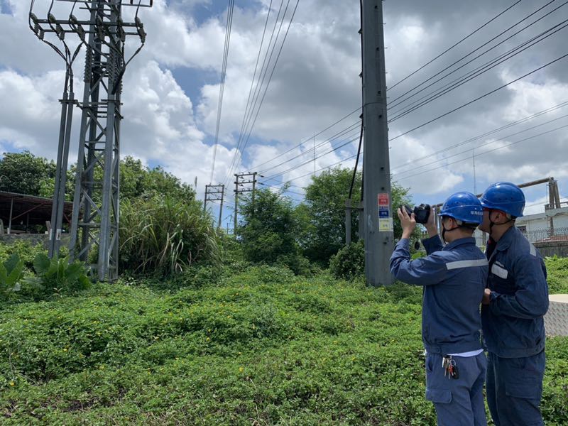
[[[449,197],[439,212],[442,244],[430,214],[422,240],[428,256],[410,260],[409,239],[416,225],[398,209],[403,238],[391,256],[397,280],[422,285],[422,341],[426,355],[426,399],[438,425],[486,425],[483,386],[486,356],[481,347],[479,305],[488,273],[487,259],[472,237],[483,209],[470,192]]]

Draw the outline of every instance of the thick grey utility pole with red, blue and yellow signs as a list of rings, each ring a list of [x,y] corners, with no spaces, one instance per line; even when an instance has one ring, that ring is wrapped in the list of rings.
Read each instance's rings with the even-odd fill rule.
[[[383,4],[381,0],[363,0],[362,7],[365,276],[368,285],[390,285],[393,276],[389,259],[394,237]]]

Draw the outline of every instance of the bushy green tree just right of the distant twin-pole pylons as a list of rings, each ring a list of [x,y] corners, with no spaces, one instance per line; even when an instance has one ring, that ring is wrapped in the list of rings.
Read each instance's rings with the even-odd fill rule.
[[[242,215],[239,236],[246,260],[258,263],[283,263],[295,273],[309,265],[300,256],[297,243],[299,222],[292,201],[268,189],[255,192],[239,205]]]

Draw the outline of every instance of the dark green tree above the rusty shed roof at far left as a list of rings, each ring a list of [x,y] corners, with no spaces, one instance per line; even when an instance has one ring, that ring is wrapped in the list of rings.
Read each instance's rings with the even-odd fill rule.
[[[49,180],[55,180],[55,163],[36,157],[30,151],[4,153],[4,158],[0,160],[2,191],[45,196],[45,182]]]

